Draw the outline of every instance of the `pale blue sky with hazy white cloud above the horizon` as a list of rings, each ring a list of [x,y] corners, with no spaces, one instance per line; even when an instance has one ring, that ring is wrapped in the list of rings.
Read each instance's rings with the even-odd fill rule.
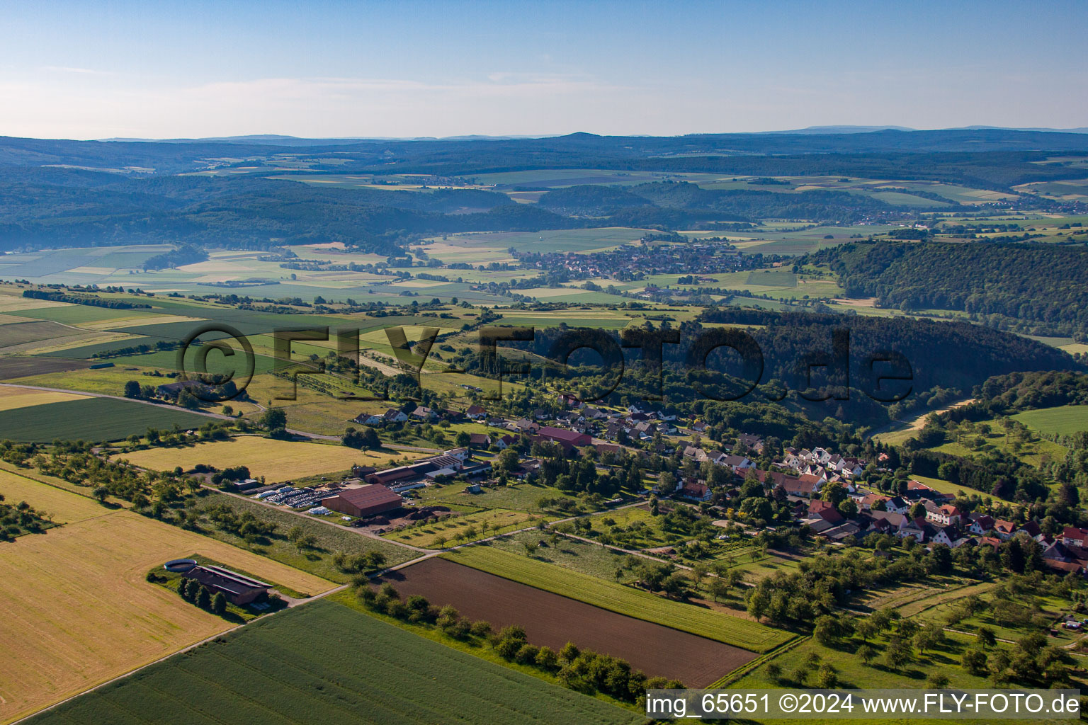
[[[1086,27],[1080,0],[0,0],[0,136],[1079,127]]]

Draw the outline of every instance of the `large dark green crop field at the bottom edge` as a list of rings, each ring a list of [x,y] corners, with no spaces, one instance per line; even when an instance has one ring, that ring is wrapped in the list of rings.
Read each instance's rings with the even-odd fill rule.
[[[323,600],[151,665],[35,725],[547,723],[642,717]]]

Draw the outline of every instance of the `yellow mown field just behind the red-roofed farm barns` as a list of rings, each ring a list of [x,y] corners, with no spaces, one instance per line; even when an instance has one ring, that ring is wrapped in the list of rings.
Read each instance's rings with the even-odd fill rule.
[[[274,440],[261,436],[238,436],[233,440],[217,440],[176,448],[149,448],[118,455],[133,465],[153,471],[173,471],[175,466],[190,470],[198,463],[227,468],[238,464],[249,466],[255,478],[268,483],[293,480],[322,473],[347,471],[353,464],[385,467],[392,461],[417,459],[420,453],[378,453],[360,451],[336,443],[297,440]]]

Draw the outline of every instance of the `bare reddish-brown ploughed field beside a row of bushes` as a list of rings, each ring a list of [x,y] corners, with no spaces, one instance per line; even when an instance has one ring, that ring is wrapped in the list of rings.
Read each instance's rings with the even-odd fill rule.
[[[442,559],[392,572],[381,582],[391,583],[403,597],[422,595],[437,605],[453,604],[462,615],[486,620],[495,628],[521,625],[534,645],[558,650],[572,641],[689,687],[709,685],[756,657]]]

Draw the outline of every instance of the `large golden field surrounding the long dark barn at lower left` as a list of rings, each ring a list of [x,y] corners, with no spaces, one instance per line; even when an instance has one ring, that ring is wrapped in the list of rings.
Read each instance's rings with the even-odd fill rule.
[[[0,492],[63,526],[0,546],[0,722],[124,674],[231,625],[149,584],[170,559],[199,553],[267,582],[318,593],[333,585],[255,553],[26,478]]]

